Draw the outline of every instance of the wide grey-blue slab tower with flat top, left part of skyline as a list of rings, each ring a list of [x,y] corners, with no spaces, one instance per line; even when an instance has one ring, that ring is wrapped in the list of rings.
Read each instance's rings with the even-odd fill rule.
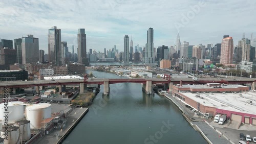
[[[22,38],[22,63],[37,63],[39,61],[39,41],[33,35]]]

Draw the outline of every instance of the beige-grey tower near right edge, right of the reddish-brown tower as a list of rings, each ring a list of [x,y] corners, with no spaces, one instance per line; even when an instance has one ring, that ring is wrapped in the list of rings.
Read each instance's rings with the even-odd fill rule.
[[[238,41],[238,48],[242,49],[242,61],[250,61],[250,40],[248,38],[242,38],[242,40]]]

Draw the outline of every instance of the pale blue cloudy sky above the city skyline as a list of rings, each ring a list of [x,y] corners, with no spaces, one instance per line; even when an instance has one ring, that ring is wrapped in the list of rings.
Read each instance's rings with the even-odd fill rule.
[[[255,0],[3,0],[0,2],[0,38],[39,38],[39,49],[48,53],[48,29],[61,29],[61,41],[69,50],[77,47],[78,29],[87,34],[87,52],[112,49],[123,51],[123,37],[145,46],[148,28],[154,29],[154,47],[221,43],[223,35],[238,44],[246,38],[256,41]],[[75,50],[76,52],[76,50]]]

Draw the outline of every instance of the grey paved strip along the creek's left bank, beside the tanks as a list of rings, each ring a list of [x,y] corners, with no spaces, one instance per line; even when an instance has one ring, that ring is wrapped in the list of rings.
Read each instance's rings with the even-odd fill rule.
[[[80,115],[88,108],[74,108],[74,110],[67,116],[66,127],[62,130],[53,129],[49,134],[40,137],[33,143],[45,144],[45,143],[56,143],[74,124],[74,122],[79,118]],[[69,143],[69,141],[63,141],[62,143]]]

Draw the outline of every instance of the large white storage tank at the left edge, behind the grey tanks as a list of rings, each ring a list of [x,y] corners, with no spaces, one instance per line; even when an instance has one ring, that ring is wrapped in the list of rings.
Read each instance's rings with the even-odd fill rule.
[[[5,123],[15,123],[24,118],[23,102],[9,102],[7,106],[5,103],[0,104],[0,119]],[[8,112],[8,113],[6,113]],[[5,115],[8,114],[8,117]]]

